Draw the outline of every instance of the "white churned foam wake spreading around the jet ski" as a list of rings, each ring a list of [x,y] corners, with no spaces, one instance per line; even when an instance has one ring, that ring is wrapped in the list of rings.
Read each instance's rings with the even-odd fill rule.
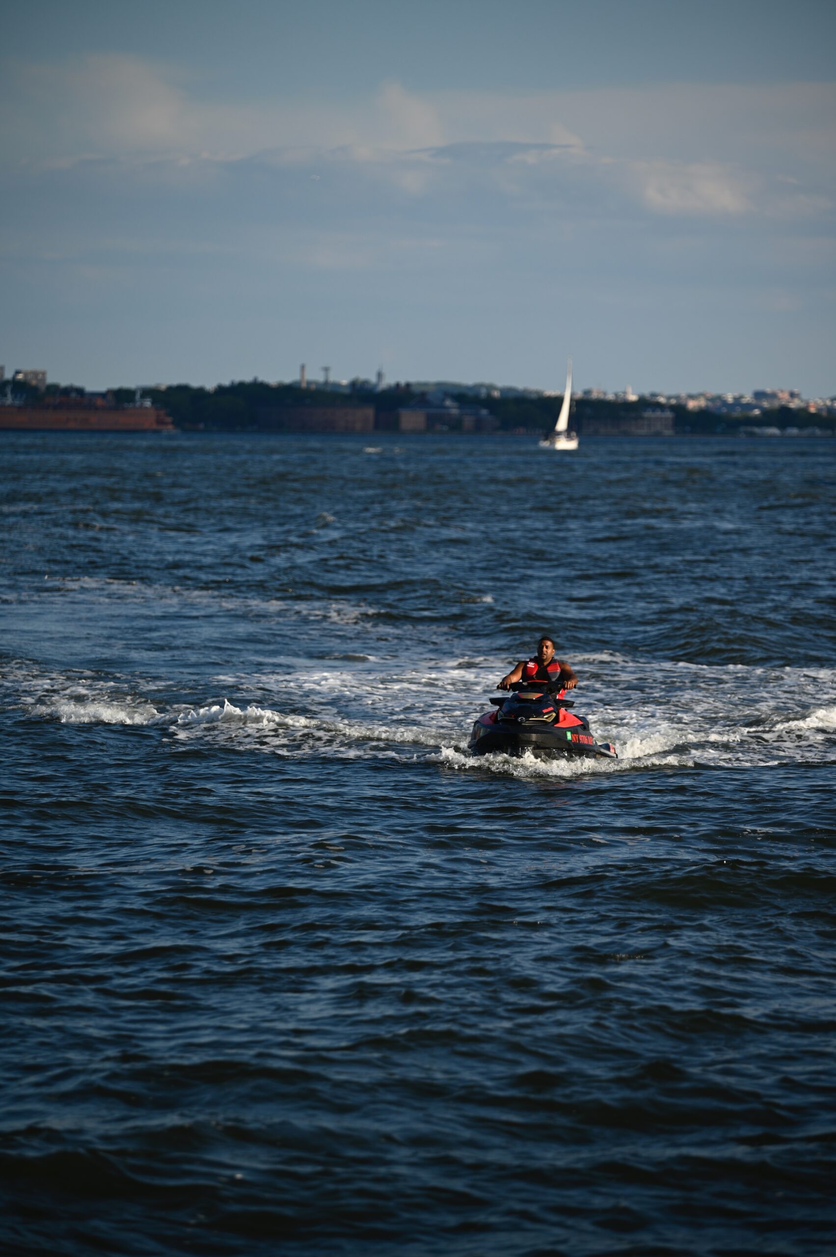
[[[430,757],[445,768],[515,777],[573,777],[657,767],[745,767],[836,758],[832,669],[774,670],[588,656],[576,710],[617,760],[536,760],[465,753],[470,720],[487,706],[504,660],[463,657],[422,666],[344,656],[259,675],[215,679],[228,696],[165,700],[137,678],[6,669],[0,698],[64,724],[155,725],[173,738],[224,740],[287,755]],[[575,695],[573,695],[575,696]],[[180,695],[177,695],[180,698]]]

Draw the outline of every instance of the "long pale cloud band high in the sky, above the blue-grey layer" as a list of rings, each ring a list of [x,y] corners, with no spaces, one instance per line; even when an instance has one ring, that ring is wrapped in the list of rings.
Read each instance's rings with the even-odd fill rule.
[[[556,92],[410,92],[366,98],[275,92],[217,99],[179,65],[124,53],[8,62],[4,147],[68,156],[156,151],[248,155],[269,147],[421,148],[509,141],[634,161],[821,161],[836,151],[833,83],[699,84]],[[792,171],[791,171],[792,173]]]

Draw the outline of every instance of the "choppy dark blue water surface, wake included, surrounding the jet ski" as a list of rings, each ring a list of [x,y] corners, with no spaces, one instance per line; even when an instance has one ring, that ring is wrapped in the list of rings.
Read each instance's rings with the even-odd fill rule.
[[[832,1252],[836,442],[0,460],[6,1251]]]

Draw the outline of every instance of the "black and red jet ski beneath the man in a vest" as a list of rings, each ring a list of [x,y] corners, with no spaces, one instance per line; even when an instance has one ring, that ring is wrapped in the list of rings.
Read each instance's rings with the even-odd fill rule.
[[[537,759],[617,759],[611,742],[596,742],[585,715],[563,698],[557,684],[515,681],[509,694],[492,699],[493,710],[474,723],[469,750],[474,755],[532,754]]]

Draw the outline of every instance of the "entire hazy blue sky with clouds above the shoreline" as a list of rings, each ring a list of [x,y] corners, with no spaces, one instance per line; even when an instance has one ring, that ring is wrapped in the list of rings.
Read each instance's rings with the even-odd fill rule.
[[[28,0],[0,363],[836,395],[832,0]]]

